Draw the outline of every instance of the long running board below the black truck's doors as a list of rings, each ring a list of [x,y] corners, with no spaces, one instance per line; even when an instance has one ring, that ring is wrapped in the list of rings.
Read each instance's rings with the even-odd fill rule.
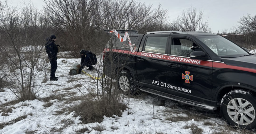
[[[198,103],[198,102],[193,102],[193,101],[190,101],[190,100],[186,100],[184,98],[175,97],[173,95],[158,92],[158,91],[148,89],[148,88],[141,87],[140,90],[144,91],[144,92],[147,92],[147,93],[155,94],[155,95],[158,95],[158,96],[161,96],[161,97],[164,97],[164,98],[175,100],[177,102],[181,102],[181,103],[189,104],[189,105],[192,105],[192,106],[196,106],[196,107],[199,107],[199,108],[205,108],[205,109],[209,109],[209,110],[216,110],[217,109],[216,107],[213,107],[213,106],[209,106],[209,105]]]

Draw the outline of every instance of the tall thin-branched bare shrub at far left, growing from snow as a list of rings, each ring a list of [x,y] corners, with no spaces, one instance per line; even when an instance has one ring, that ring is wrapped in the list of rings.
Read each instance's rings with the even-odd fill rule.
[[[39,73],[36,66],[46,36],[45,16],[32,4],[24,4],[20,10],[9,7],[6,1],[0,4],[0,41],[4,42],[0,44],[4,59],[1,73],[19,100],[33,100]]]

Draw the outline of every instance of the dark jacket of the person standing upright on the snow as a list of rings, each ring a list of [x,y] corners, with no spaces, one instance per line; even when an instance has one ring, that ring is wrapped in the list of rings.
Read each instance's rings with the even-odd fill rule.
[[[45,44],[45,50],[48,55],[49,60],[51,59],[57,59],[57,54],[58,54],[58,48],[57,45],[54,43],[55,41],[53,40],[48,40]]]

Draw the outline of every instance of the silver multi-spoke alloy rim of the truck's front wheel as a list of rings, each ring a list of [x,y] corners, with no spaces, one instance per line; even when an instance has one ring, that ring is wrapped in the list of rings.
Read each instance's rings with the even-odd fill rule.
[[[234,98],[229,101],[227,112],[231,120],[239,125],[249,125],[255,119],[253,105],[243,98]]]

